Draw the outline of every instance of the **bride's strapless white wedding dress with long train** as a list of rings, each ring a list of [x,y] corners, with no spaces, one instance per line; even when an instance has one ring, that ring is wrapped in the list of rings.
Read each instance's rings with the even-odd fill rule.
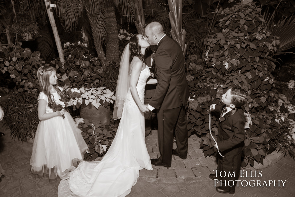
[[[144,103],[145,84],[150,76],[148,67],[141,71],[137,91]],[[99,196],[124,197],[130,193],[139,176],[139,170],[153,170],[145,145],[145,119],[127,93],[122,118],[112,145],[98,162],[82,161],[70,172],[68,180],[61,180],[59,197]]]

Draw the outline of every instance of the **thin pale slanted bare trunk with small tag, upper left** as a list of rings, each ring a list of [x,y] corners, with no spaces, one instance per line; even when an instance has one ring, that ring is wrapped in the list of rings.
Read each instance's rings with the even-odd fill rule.
[[[60,43],[60,38],[59,38],[59,35],[58,35],[58,31],[57,31],[56,24],[55,24],[55,19],[54,19],[54,16],[53,16],[53,10],[49,6],[49,4],[51,4],[51,1],[50,0],[44,0],[44,2],[45,2],[45,5],[46,5],[46,10],[47,10],[49,22],[50,22],[50,25],[52,27],[56,47],[57,47],[57,50],[58,50],[59,59],[60,59],[60,62],[64,64],[65,63],[65,57],[63,55],[63,47],[62,47],[62,45]]]

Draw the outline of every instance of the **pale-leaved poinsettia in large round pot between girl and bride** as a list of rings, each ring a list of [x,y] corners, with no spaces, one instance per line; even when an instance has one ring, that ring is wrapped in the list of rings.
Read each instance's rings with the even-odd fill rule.
[[[82,95],[78,103],[81,103],[79,108],[81,118],[88,120],[98,120],[102,124],[110,123],[111,110],[109,103],[114,104],[114,92],[106,87],[81,87],[79,90]]]

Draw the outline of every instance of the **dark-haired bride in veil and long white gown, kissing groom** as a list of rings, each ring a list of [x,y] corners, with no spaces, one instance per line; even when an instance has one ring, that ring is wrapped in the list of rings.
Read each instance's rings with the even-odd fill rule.
[[[145,84],[157,83],[148,80],[150,71],[144,63],[149,46],[140,34],[130,38],[120,63],[113,118],[121,121],[113,143],[101,161],[82,161],[68,180],[61,180],[59,197],[124,197],[135,185],[139,170],[153,170],[145,145],[144,113],[149,109],[143,104]]]

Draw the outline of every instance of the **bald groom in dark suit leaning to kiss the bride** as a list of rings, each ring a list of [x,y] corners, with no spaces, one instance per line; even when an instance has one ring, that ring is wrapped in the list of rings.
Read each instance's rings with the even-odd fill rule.
[[[172,155],[186,159],[188,136],[184,106],[189,98],[189,87],[184,73],[184,58],[180,45],[165,35],[158,22],[145,27],[150,45],[158,45],[155,53],[155,76],[158,80],[148,107],[157,109],[160,157],[151,159],[155,166],[171,167]],[[177,148],[173,146],[175,131]]]

